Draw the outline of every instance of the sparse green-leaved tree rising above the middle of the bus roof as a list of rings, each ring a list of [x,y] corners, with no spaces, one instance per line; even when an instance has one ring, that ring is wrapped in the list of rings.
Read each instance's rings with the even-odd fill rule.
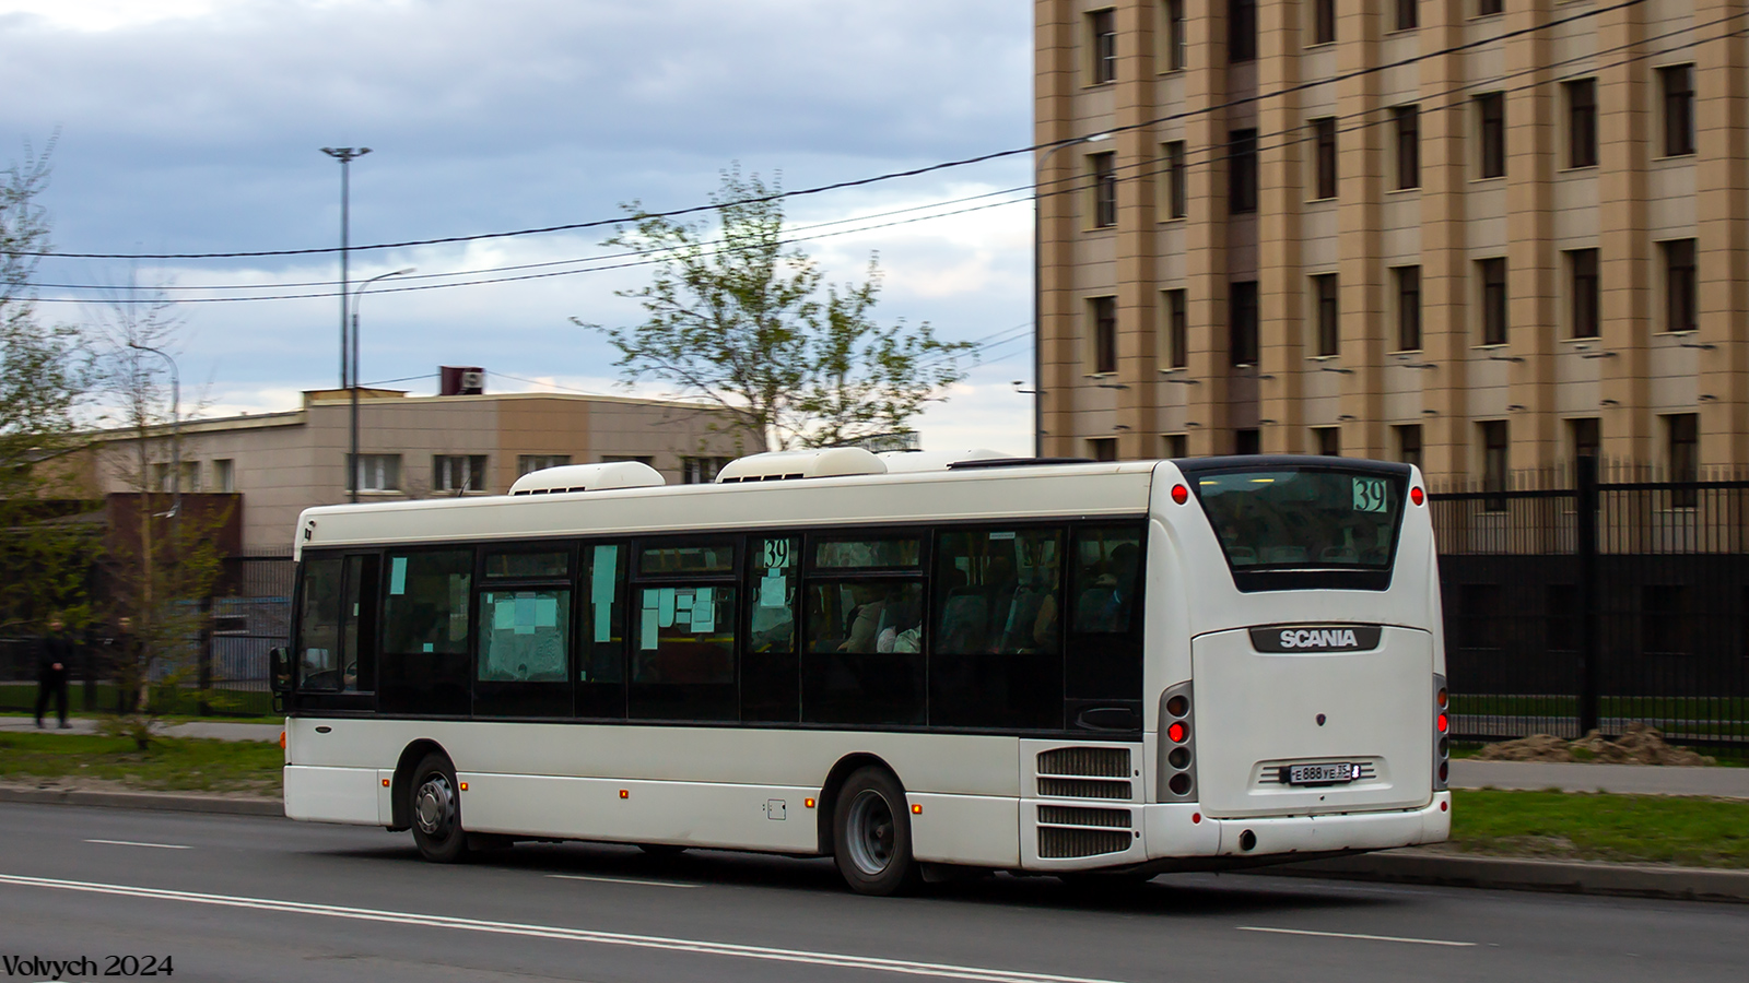
[[[930,401],[965,378],[972,345],[941,341],[929,324],[881,325],[873,310],[880,266],[862,283],[826,283],[784,240],[777,182],[722,171],[714,219],[682,222],[626,205],[631,219],[607,245],[651,255],[637,299],[637,327],[602,327],[630,381],[652,380],[675,395],[719,408],[749,450],[833,446],[908,434]]]

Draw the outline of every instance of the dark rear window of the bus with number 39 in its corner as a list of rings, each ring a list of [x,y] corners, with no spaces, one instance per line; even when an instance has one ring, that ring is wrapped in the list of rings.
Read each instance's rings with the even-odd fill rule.
[[[1188,478],[1235,574],[1375,570],[1389,575],[1406,476],[1268,467],[1198,471]]]

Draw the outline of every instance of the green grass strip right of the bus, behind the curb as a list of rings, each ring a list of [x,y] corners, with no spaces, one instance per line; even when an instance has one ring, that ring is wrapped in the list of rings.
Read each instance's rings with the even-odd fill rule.
[[[1749,801],[1607,792],[1453,792],[1452,848],[1499,857],[1749,868]]]

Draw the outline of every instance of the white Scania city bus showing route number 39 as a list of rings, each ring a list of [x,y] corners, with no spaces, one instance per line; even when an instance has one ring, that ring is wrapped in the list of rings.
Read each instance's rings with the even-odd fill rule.
[[[1438,841],[1424,502],[1347,458],[829,450],[310,509],[285,812],[432,861],[831,855],[869,894]]]

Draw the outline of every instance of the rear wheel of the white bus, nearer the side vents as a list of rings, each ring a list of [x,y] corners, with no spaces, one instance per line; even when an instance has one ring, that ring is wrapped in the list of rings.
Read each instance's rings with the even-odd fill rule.
[[[859,768],[838,791],[833,861],[857,894],[901,894],[922,880],[904,789],[885,768]]]

